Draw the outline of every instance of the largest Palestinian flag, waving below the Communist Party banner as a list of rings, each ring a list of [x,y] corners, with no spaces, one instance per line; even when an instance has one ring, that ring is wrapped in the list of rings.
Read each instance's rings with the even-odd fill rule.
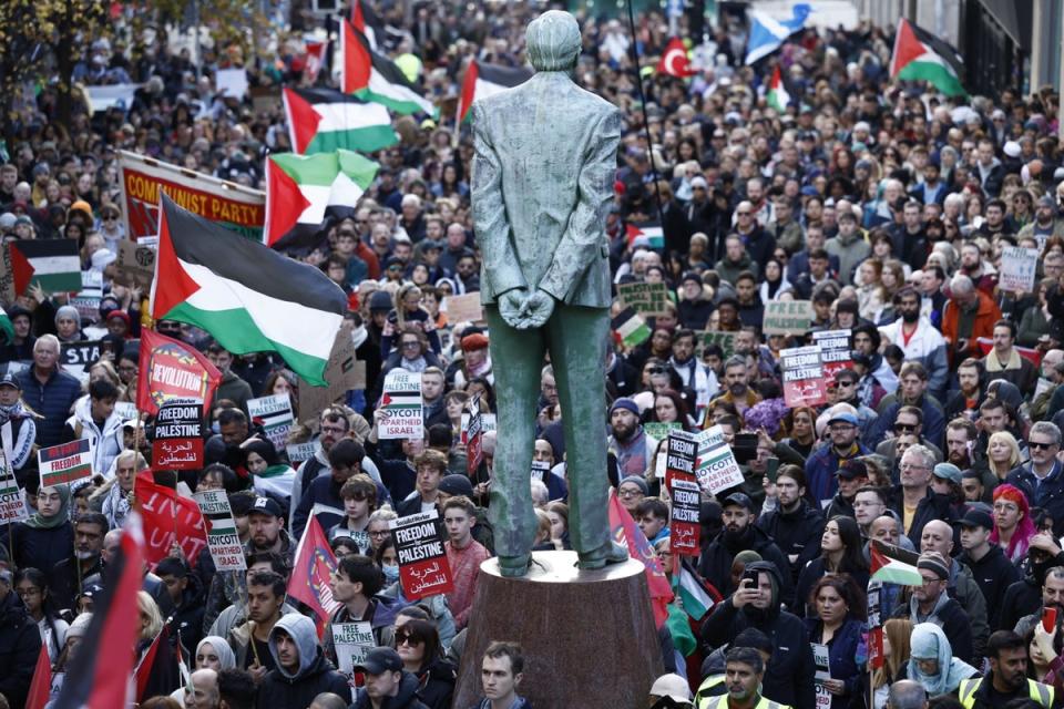
[[[152,317],[195,325],[235,354],[278,352],[324,387],[347,297],[328,276],[178,207],[165,194]]]

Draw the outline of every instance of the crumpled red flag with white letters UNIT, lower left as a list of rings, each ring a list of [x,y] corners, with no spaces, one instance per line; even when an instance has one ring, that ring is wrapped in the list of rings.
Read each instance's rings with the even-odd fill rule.
[[[136,474],[133,492],[144,518],[145,557],[155,568],[176,541],[182,553],[194,566],[200,552],[207,545],[207,527],[195,500],[182,497],[172,487],[158,485],[152,471]]]

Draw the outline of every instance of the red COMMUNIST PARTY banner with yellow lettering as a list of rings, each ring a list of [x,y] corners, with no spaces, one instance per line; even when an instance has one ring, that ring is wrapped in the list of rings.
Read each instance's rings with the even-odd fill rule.
[[[158,234],[158,193],[182,208],[260,242],[266,193],[136,153],[119,151],[120,203],[131,240]]]

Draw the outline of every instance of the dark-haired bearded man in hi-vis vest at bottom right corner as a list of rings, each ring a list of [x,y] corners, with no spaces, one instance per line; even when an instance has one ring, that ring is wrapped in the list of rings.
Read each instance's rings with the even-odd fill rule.
[[[1027,679],[1027,643],[1012,630],[998,630],[986,644],[990,672],[962,679],[958,696],[964,709],[998,709],[1019,701],[1033,701],[1045,709],[1053,705],[1053,688]]]

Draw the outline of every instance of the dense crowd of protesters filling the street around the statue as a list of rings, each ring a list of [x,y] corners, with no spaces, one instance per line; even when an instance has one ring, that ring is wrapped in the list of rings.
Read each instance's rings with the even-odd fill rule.
[[[188,559],[175,549],[146,573],[134,651],[143,657],[165,627],[168,641],[153,653],[170,659],[153,655],[158,669],[141,706],[451,706],[479,566],[493,555],[489,491],[504,432],[492,430],[490,414],[493,371],[507,363],[492,361],[482,322],[453,321],[444,305],[478,291],[480,280],[472,142],[448,111],[454,115],[470,60],[524,63],[523,30],[536,12],[483,6],[466,14],[448,3],[409,14],[378,8],[388,27],[381,51],[415,55],[419,85],[446,110],[440,119],[396,117],[401,142],[372,156],[380,169],[355,213],[316,246],[289,253],[348,294],[346,317],[366,363],[364,389],[298,418],[313,423],[294,428],[289,442],[316,442],[317,452],[296,465],[247,407],[282,394],[300,412],[298,379],[284,360],[233,354],[194,327],[153,322],[147,294],[115,282],[112,264],[126,238],[115,151],[264,187],[264,157],[289,150],[280,105],[222,96],[212,76],[244,66],[256,88],[306,84],[298,38],[278,32],[278,56],[268,61],[245,62],[238,45],[207,48],[198,80],[190,53],[162,34],[149,45],[95,39],[79,48],[75,75],[143,82],[131,105],[75,109],[62,123],[48,83],[17,104],[17,140],[0,165],[0,235],[78,239],[83,270],[96,271],[104,290],[98,312],[38,286],[4,304],[12,332],[0,347],[0,436],[29,517],[0,531],[0,706],[23,706],[42,647],[54,701],[86,643],[93,600],[136,502],[134,481],[151,469],[151,425],[144,435],[135,418],[116,412],[136,401],[139,337],[149,328],[203,350],[223,374],[204,467],[183,472],[178,492],[228,493],[247,572],[217,572],[206,551]],[[574,78],[624,116],[603,225],[614,284],[664,282],[668,301],[646,318],[644,340],[615,333],[605,345],[606,441],[565,440],[557,382],[543,363],[530,472],[535,548],[569,547],[566,446],[607,446],[603,474],[666,575],[689,574],[714,602],[704,615],[679,594],[671,604],[659,633],[667,674],[648,706],[1058,706],[1056,93],[1001,86],[959,99],[891,81],[890,30],[867,24],[807,30],[745,66],[730,16],[694,48],[693,78],[641,74],[632,50],[651,66],[668,40],[659,13],[640,16],[635,37],[616,19],[580,19]],[[782,111],[766,100],[777,66],[791,92]],[[327,74],[317,81],[331,83]],[[643,97],[637,75],[646,76]],[[633,227],[655,225],[664,247],[630,238]],[[999,282],[1012,246],[1039,253],[1030,291]],[[763,333],[767,304],[787,300],[811,301],[810,330]],[[849,361],[828,378],[826,403],[790,408],[780,352],[821,330],[848,331]],[[62,346],[84,340],[102,340],[103,356],[72,374]],[[376,407],[396,368],[421,377],[423,438],[378,440]],[[478,394],[488,430],[470,474],[463,414]],[[662,431],[714,425],[744,483],[703,494],[700,549],[681,561],[658,474]],[[84,438],[93,442],[91,481],[42,487],[35,451]],[[157,482],[172,486],[173,475]],[[454,589],[411,603],[389,521],[430,508],[439,511]],[[370,621],[378,646],[354,668],[357,681],[337,670],[331,636],[319,644],[314,620],[286,598],[311,515],[338,559],[329,586],[341,607],[330,620]],[[878,594],[881,664],[869,659],[872,540],[919,554],[923,579]],[[817,648],[827,666],[815,660]],[[550,659],[525,657],[511,638],[497,638],[475,661],[485,709],[530,706],[521,684],[553,681],[530,671]]]

